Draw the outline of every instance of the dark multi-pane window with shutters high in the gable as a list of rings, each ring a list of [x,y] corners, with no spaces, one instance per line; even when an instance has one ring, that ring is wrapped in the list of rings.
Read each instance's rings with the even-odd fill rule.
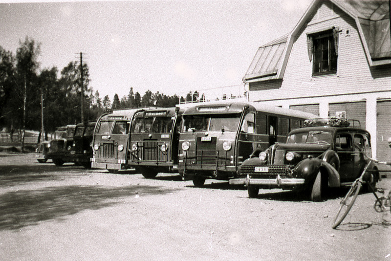
[[[308,56],[312,63],[312,75],[337,73],[338,29],[333,28],[307,36]]]

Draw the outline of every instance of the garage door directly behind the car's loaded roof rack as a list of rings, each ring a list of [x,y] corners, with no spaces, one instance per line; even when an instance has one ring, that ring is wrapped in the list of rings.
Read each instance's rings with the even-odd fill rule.
[[[366,104],[365,102],[351,103],[330,103],[328,105],[329,115],[333,116],[336,112],[345,112],[347,119],[359,120],[363,129],[366,129]]]

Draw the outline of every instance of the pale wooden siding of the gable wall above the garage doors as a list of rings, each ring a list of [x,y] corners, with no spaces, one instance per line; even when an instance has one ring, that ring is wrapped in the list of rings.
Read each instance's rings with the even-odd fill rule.
[[[277,90],[253,91],[250,94],[252,101],[389,91],[391,89],[391,66],[387,65],[383,69],[369,68],[355,21],[338,7],[331,8],[331,4],[327,1],[323,2],[317,13],[320,14],[322,10],[333,10],[332,15],[327,17],[314,15],[293,43],[281,87]],[[337,74],[312,77],[312,62],[308,59],[306,34],[332,26],[338,26],[341,30]]]

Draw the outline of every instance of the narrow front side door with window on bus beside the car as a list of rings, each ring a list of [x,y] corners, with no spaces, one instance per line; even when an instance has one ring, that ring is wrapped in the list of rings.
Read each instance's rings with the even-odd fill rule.
[[[257,140],[255,130],[255,113],[248,112],[240,126],[238,137],[238,164],[240,165],[254,151]]]

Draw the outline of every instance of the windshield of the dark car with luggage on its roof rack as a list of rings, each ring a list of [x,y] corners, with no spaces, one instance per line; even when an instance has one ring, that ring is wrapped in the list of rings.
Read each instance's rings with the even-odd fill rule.
[[[332,134],[328,131],[295,132],[288,136],[286,143],[316,143],[330,145]]]

